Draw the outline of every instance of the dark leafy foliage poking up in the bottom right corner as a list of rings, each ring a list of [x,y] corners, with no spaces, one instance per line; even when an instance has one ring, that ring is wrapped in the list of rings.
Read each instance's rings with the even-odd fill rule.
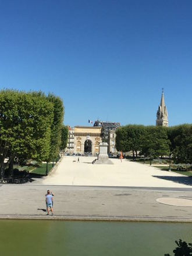
[[[192,244],[187,244],[186,241],[175,241],[177,247],[173,250],[175,256],[192,256]],[[170,254],[164,254],[164,256],[170,256]]]

